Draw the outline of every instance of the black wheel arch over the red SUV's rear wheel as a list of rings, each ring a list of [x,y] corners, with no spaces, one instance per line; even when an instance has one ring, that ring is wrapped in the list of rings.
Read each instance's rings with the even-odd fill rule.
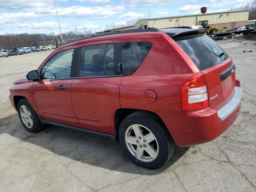
[[[122,122],[122,120],[124,120],[124,118],[126,118],[128,115],[134,113],[134,112],[144,112],[150,116],[153,116],[154,118],[156,118],[156,120],[162,124],[162,126],[166,129],[166,131],[169,133],[170,137],[171,134],[168,130],[168,128],[166,127],[164,121],[162,120],[162,118],[160,118],[160,116],[152,111],[147,111],[147,110],[140,110],[140,109],[131,109],[131,108],[119,108],[118,110],[116,110],[115,114],[114,114],[114,128],[115,128],[115,132],[116,132],[116,140],[119,140],[118,138],[118,132],[119,132],[119,126]]]

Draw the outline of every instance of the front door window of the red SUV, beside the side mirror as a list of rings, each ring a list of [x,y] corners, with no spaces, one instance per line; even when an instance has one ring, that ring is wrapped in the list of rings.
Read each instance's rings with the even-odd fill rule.
[[[74,49],[65,50],[54,55],[42,68],[42,79],[70,78]]]

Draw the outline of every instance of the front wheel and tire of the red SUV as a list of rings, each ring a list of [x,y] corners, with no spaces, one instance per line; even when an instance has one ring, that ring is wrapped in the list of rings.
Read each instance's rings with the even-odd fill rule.
[[[18,114],[27,131],[35,133],[42,130],[43,124],[27,99],[21,99],[18,102]]]

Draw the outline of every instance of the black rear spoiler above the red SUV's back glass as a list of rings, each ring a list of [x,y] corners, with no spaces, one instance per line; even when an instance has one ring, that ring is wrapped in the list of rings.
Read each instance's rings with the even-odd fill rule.
[[[206,33],[206,29],[188,29],[188,28],[172,28],[172,29],[163,29],[163,32],[168,34],[171,38],[188,36],[188,35],[197,35]]]

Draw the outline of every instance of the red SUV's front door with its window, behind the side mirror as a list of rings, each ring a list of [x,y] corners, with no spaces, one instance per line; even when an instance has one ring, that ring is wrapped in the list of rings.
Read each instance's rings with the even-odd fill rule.
[[[74,48],[52,56],[40,70],[40,80],[33,84],[33,96],[42,118],[70,126],[79,126],[71,100],[71,66]]]

